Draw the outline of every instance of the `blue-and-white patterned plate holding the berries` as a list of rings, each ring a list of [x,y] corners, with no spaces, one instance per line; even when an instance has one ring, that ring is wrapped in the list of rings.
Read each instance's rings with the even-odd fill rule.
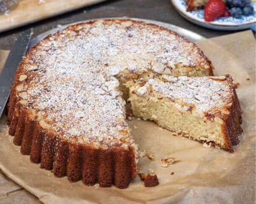
[[[256,3],[252,3],[254,8],[253,15],[241,16],[239,18],[234,17],[219,17],[218,19],[206,22],[204,21],[204,9],[198,9],[196,11],[186,11],[185,0],[171,0],[173,6],[180,13],[181,16],[186,18],[192,23],[205,28],[211,28],[215,30],[243,30],[247,28],[254,28],[256,26]]]

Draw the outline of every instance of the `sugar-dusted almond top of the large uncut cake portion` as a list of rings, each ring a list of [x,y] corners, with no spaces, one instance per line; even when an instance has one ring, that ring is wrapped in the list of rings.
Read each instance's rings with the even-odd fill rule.
[[[155,63],[209,68],[198,52],[172,32],[129,20],[70,26],[24,58],[23,72],[32,76],[26,105],[44,111],[51,128],[67,138],[131,144],[125,102],[111,76],[125,69],[141,74]]]

